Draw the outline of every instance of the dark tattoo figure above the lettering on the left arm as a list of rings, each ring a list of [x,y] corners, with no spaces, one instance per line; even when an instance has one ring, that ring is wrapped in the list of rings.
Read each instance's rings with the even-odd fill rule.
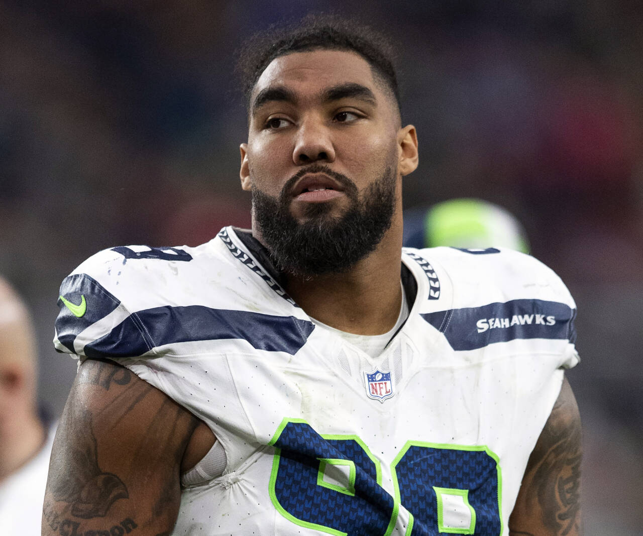
[[[123,481],[115,474],[98,467],[98,449],[91,427],[91,413],[84,411],[82,424],[86,434],[73,445],[73,462],[50,487],[56,501],[71,504],[71,514],[82,519],[104,517],[109,507],[129,494]]]

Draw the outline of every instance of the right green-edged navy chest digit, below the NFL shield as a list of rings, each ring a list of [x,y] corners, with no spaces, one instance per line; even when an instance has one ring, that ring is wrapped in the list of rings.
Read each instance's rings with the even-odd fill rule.
[[[500,535],[500,466],[486,447],[409,442],[393,470],[411,536]]]

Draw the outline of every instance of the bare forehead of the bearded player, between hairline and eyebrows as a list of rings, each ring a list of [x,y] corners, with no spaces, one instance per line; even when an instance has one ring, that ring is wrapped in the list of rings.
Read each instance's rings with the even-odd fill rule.
[[[255,84],[251,99],[262,89],[273,85],[314,92],[347,82],[365,85],[374,92],[377,88],[370,64],[357,53],[325,49],[294,52],[275,58],[268,64]]]

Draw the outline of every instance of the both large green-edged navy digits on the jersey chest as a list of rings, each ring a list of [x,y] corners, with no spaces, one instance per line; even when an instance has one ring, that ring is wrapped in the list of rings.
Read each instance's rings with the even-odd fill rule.
[[[392,497],[358,436],[320,435],[303,420],[284,419],[271,445],[271,500],[300,526],[388,536],[404,506],[406,536],[502,533],[500,465],[487,447],[407,442],[391,464]]]

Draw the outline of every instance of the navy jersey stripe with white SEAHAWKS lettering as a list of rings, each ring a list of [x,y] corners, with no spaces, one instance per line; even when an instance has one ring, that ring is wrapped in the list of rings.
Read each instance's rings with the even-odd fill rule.
[[[421,316],[444,334],[453,350],[476,350],[514,339],[568,339],[573,343],[575,313],[557,301],[512,299]]]

